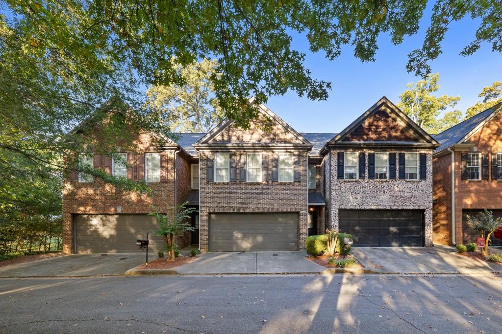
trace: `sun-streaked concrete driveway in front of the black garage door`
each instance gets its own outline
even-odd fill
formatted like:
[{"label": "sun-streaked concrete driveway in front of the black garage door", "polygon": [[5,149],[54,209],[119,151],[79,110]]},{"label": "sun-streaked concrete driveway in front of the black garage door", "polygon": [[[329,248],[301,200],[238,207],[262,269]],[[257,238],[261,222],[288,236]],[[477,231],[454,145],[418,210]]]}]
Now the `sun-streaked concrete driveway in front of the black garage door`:
[{"label": "sun-streaked concrete driveway in front of the black garage door", "polygon": [[488,273],[502,272],[496,263],[455,254],[455,247],[353,247],[365,270],[376,273]]}]

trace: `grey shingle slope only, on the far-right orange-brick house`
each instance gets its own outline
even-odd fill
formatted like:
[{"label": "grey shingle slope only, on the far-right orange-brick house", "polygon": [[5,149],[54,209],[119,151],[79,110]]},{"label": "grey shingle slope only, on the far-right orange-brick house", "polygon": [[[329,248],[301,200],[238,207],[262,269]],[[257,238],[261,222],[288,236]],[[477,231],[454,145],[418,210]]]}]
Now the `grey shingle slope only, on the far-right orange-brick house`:
[{"label": "grey shingle slope only, on the far-right orange-brick house", "polygon": [[485,111],[482,111],[479,114],[474,115],[471,118],[452,126],[448,130],[445,130],[437,135],[433,135],[434,139],[436,139],[441,144],[441,146],[438,147],[436,151],[441,151],[457,144],[460,139],[465,137],[476,126],[478,126],[479,123],[483,122],[488,116],[496,111],[498,109],[498,106],[500,105],[495,105],[489,109],[486,109]]}]

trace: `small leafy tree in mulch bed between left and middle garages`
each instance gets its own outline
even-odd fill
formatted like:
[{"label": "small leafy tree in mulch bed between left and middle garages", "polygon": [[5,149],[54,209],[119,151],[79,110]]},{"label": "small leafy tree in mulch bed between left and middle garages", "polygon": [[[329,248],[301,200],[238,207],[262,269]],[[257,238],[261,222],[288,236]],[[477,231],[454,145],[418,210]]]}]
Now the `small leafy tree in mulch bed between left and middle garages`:
[{"label": "small leafy tree in mulch bed between left and middle garages", "polygon": [[166,205],[166,214],[159,213],[156,207],[150,215],[157,219],[159,229],[157,234],[160,235],[166,243],[167,257],[171,261],[176,258],[176,238],[187,231],[194,231],[194,228],[188,222],[192,212],[197,211],[196,208],[186,208],[188,202],[179,206],[171,207]]}]

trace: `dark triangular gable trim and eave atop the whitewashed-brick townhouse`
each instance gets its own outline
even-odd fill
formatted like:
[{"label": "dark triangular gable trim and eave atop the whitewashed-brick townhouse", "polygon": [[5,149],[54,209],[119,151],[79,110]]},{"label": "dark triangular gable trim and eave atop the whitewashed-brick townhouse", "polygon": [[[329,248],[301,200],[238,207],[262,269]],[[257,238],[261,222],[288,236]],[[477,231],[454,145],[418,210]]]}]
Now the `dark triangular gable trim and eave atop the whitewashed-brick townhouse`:
[{"label": "dark triangular gable trim and eave atop the whitewashed-brick townhouse", "polygon": [[366,110],[361,116],[359,116],[355,121],[353,121],[349,126],[340,131],[335,135],[328,143],[324,145],[321,149],[321,154],[324,152],[328,145],[341,144],[344,138],[346,138],[352,131],[359,127],[365,120],[371,117],[374,113],[384,108],[391,117],[396,118],[399,122],[402,122],[407,129],[417,138],[420,138],[422,142],[389,142],[389,141],[367,141],[367,142],[343,142],[343,145],[360,145],[361,143],[371,144],[371,145],[422,145],[428,147],[437,147],[440,144],[429,135],[424,129],[419,127],[412,119],[408,117],[404,112],[401,111],[394,103],[392,103],[387,97],[383,96],[378,102],[372,105],[368,110]]}]

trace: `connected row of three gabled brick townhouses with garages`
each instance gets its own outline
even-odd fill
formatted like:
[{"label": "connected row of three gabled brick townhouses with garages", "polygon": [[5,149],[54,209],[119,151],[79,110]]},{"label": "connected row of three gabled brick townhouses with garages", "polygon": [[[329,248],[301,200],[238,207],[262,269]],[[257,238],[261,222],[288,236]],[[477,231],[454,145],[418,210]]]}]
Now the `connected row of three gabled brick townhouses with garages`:
[{"label": "connected row of three gabled brick townhouses with garages", "polygon": [[[254,99],[250,100],[254,103]],[[145,180],[151,198],[72,174],[63,189],[65,252],[138,251],[152,205],[188,202],[201,251],[302,250],[308,235],[339,227],[357,245],[432,244],[432,152],[439,144],[385,97],[339,134],[298,133],[266,106],[249,129],[224,120],[207,134],[176,134],[121,161],[81,163]]]}]

